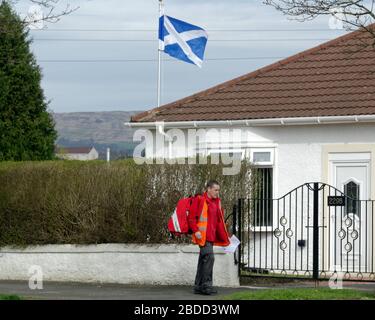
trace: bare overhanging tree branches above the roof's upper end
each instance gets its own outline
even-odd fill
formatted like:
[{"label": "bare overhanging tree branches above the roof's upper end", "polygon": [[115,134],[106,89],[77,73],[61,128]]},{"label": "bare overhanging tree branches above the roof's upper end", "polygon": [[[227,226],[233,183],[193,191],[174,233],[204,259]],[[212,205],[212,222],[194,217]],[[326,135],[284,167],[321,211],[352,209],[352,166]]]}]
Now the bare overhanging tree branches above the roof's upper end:
[{"label": "bare overhanging tree branches above the roof's upper end", "polygon": [[298,21],[312,20],[318,16],[333,16],[348,30],[360,29],[374,39],[375,0],[264,0]]}]

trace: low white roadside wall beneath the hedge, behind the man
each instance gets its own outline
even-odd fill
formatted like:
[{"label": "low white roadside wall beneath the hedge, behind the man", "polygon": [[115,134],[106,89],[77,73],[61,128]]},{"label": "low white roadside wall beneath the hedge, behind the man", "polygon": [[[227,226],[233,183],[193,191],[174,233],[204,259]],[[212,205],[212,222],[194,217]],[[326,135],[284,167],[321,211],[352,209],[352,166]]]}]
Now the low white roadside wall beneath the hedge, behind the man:
[{"label": "low white roadside wall beneath the hedge, behind the man", "polygon": [[[233,254],[214,247],[215,286],[239,286]],[[0,279],[25,280],[29,268],[42,268],[44,281],[147,285],[194,285],[196,245],[44,245],[0,250]]]}]

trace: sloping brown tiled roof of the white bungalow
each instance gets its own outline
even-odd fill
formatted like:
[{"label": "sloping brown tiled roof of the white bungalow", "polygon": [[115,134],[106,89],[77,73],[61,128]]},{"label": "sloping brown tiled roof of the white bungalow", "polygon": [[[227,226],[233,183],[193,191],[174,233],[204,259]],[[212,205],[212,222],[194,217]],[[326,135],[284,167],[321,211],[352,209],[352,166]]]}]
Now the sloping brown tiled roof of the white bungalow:
[{"label": "sloping brown tiled roof of the white bungalow", "polygon": [[131,121],[375,114],[373,44],[369,33],[351,32]]}]

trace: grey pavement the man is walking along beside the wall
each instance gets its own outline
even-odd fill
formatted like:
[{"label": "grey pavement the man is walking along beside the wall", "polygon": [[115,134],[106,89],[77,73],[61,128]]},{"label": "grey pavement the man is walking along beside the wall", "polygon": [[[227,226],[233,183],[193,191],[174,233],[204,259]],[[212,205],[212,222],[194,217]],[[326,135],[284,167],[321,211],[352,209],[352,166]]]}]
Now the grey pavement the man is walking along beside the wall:
[{"label": "grey pavement the man is walking along beside the wall", "polygon": [[[320,287],[328,281],[319,282]],[[0,294],[16,294],[31,300],[220,300],[223,296],[246,290],[314,288],[315,283],[290,282],[246,285],[235,288],[215,287],[217,295],[193,293],[193,286],[124,285],[72,282],[43,282],[43,289],[30,289],[28,281],[0,281]],[[375,282],[344,282],[344,289],[375,291]]]}]

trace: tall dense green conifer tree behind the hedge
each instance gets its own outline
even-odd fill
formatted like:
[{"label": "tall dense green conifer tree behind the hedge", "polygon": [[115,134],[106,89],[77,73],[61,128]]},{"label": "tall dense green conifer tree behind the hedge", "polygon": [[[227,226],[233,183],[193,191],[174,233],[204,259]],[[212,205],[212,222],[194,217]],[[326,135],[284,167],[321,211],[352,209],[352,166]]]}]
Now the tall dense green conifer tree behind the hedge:
[{"label": "tall dense green conifer tree behind the hedge", "polygon": [[0,160],[47,160],[57,132],[40,86],[28,30],[7,1],[0,4]]}]

